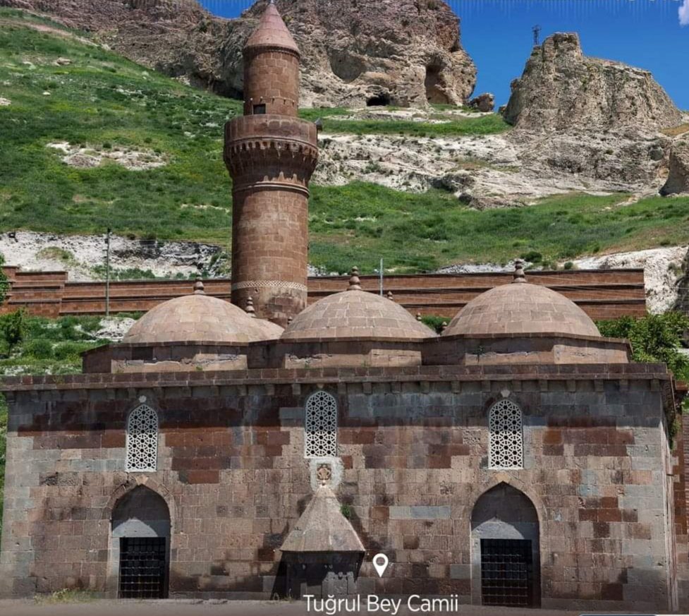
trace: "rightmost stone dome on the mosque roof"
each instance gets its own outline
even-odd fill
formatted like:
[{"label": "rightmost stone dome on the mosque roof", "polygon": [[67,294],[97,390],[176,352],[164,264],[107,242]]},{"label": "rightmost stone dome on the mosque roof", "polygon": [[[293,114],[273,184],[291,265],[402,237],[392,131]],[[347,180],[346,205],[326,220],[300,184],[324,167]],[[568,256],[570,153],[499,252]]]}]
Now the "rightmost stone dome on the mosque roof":
[{"label": "rightmost stone dome on the mosque roof", "polygon": [[443,332],[491,334],[573,334],[600,337],[590,317],[565,296],[537,284],[502,284],[472,299]]}]

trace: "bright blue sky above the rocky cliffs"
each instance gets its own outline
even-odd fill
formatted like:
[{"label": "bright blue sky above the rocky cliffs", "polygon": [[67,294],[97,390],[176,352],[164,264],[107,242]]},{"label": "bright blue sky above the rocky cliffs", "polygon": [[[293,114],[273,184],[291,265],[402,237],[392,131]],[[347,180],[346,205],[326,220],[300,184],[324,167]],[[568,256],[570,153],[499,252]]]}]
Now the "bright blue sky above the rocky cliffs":
[{"label": "bright blue sky above the rocky cliffs", "polygon": [[[689,0],[447,0],[462,18],[462,44],[478,68],[476,93],[509,97],[541,37],[579,32],[585,54],[652,71],[678,107],[689,110]],[[251,0],[200,0],[212,13],[236,17]]]}]

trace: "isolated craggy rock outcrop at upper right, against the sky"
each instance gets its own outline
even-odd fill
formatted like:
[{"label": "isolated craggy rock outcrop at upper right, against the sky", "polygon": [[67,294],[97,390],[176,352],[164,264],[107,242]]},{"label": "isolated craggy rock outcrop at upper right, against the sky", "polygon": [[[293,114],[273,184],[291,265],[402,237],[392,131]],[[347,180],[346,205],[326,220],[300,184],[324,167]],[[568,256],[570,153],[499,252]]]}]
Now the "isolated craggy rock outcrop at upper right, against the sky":
[{"label": "isolated craggy rock outcrop at upper right, against the sky", "polygon": [[535,47],[512,82],[506,121],[528,131],[658,131],[682,121],[649,71],[585,56],[575,32]]}]

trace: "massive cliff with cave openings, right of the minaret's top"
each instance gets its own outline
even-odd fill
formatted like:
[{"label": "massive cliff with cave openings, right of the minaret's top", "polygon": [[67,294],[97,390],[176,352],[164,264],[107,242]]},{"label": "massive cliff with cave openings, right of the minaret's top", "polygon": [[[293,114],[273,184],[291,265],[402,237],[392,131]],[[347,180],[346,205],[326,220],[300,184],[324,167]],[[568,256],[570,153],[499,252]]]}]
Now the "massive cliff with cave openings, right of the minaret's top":
[{"label": "massive cliff with cave openings, right of the minaret's top", "polygon": [[[258,1],[236,29],[255,23]],[[303,54],[305,104],[363,107],[462,104],[476,70],[459,20],[441,0],[277,0]],[[233,56],[241,37],[228,40]]]}]

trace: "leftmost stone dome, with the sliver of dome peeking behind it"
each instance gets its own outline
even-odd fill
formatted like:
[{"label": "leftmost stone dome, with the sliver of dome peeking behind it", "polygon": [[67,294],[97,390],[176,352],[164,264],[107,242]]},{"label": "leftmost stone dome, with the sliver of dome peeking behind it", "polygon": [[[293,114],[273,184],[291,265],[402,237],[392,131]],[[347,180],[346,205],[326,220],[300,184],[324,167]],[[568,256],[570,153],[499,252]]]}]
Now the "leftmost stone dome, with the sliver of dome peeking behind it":
[{"label": "leftmost stone dome, with the sliver of dome peeking behind it", "polygon": [[[264,325],[241,308],[204,294],[176,297],[142,316],[122,342],[224,342],[236,344],[276,339],[278,325]],[[279,331],[278,331],[279,330]]]}]

